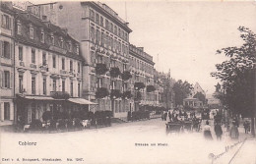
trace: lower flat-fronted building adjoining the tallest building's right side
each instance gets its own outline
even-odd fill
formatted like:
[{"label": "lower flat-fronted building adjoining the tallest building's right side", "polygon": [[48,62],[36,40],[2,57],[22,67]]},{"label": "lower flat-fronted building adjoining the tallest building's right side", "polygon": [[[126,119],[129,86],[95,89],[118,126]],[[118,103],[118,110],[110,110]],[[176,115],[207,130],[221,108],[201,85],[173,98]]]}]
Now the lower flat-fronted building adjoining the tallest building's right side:
[{"label": "lower flat-fronted building adjoining the tallest building's right side", "polygon": [[143,47],[129,46],[130,70],[132,74],[131,89],[135,95],[134,110],[140,106],[154,105],[158,99],[154,83],[153,57],[144,52]]}]

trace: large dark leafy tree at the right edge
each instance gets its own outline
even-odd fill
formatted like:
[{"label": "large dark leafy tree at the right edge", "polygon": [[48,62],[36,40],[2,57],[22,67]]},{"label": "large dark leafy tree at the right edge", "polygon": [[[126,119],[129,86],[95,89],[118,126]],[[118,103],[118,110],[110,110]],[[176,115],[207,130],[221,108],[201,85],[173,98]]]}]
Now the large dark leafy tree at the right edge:
[{"label": "large dark leafy tree at the right edge", "polygon": [[223,104],[233,114],[251,117],[254,130],[256,34],[247,27],[238,27],[238,30],[244,43],[240,47],[218,50],[217,54],[224,54],[229,60],[217,64],[217,72],[211,75],[223,82],[224,94],[219,95]]}]

